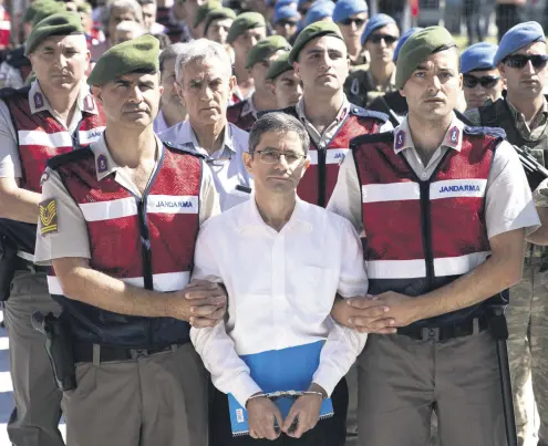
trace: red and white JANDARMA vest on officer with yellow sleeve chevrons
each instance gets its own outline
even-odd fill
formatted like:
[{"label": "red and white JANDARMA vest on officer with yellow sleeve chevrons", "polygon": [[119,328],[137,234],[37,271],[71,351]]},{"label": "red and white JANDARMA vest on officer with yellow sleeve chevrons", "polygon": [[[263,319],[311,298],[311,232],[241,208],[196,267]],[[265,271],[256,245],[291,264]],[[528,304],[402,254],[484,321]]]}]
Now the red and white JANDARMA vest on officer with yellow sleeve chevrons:
[{"label": "red and white JANDARMA vest on officer with yellow sleeve chevrons", "polygon": [[[91,268],[139,288],[182,290],[189,281],[199,229],[201,160],[164,146],[142,198],[116,183],[114,174],[97,180],[96,164],[104,162],[91,151],[77,151],[48,164],[84,216]],[[132,348],[188,342],[186,322],[120,315],[63,298],[54,271],[48,286],[72,317],[80,341]]]}]

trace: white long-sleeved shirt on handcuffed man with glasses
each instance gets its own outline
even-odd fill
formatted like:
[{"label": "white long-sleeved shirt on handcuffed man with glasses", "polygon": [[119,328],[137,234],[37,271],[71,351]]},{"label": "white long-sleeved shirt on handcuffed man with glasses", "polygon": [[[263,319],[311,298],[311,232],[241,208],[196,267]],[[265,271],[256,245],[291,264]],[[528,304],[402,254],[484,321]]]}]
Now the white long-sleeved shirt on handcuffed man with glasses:
[{"label": "white long-sleeved shirt on handcuffed man with glasses", "polygon": [[255,196],[206,221],[193,277],[225,284],[228,320],[192,329],[190,339],[215,386],[245,405],[260,388],[240,355],[323,340],[313,381],[331,394],[366,340],[330,317],[337,293],[365,295],[362,256],[349,221],[300,199],[279,232],[265,224]]}]

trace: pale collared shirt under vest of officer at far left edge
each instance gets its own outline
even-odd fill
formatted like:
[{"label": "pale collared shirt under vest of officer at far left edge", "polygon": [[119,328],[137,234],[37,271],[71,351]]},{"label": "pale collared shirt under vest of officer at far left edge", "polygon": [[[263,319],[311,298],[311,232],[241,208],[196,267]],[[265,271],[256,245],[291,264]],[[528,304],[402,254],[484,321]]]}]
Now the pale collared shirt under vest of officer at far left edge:
[{"label": "pale collared shirt under vest of officer at far left edge", "polygon": [[[95,101],[85,82],[82,82],[74,115],[68,126],[61,121],[59,114],[49,104],[38,81],[34,81],[29,90],[29,106],[32,114],[42,111],[50,112],[51,115],[71,133],[74,133],[77,129],[79,124],[82,121],[82,111],[97,114]],[[19,157],[17,131],[13,127],[8,105],[4,101],[0,101],[0,178],[20,178],[21,176],[21,160]]]}]

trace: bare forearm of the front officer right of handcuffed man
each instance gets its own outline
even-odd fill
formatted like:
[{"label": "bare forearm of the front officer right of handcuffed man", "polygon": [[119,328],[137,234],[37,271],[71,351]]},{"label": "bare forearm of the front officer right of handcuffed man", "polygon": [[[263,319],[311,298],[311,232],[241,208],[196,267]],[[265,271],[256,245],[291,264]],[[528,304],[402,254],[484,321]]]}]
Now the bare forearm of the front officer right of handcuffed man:
[{"label": "bare forearm of the front officer right of handcuffed man", "polygon": [[521,278],[521,256],[489,258],[454,282],[413,299],[417,320],[472,307],[517,283]]}]

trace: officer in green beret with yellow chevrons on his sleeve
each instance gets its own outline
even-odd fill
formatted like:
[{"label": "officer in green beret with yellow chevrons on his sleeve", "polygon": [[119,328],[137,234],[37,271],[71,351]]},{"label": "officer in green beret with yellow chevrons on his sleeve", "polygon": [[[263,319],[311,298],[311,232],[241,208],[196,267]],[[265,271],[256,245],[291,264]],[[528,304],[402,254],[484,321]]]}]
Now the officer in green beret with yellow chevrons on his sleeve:
[{"label": "officer in green beret with yellow chevrons on his sleeve", "polygon": [[214,324],[226,295],[188,279],[218,203],[203,159],[154,134],[158,46],[146,35],[97,60],[87,83],[105,133],[45,172],[35,260],[53,266],[50,292],[73,343],[70,445],[207,445],[207,381],[189,322]]}]

